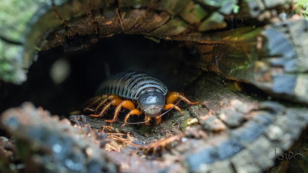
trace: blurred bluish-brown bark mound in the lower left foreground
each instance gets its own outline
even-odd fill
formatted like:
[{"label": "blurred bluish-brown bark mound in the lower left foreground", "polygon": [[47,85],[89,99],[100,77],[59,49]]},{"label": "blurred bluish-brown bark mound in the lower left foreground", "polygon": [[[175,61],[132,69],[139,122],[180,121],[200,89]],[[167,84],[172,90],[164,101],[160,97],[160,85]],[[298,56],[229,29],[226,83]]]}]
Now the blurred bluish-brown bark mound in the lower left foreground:
[{"label": "blurred bluish-brown bark mound in the lower left foreground", "polygon": [[[22,107],[7,110],[1,115],[1,127],[14,135],[19,152],[18,160],[15,156],[8,162],[16,167],[4,164],[1,156],[0,171],[3,173],[118,172],[118,166],[101,149],[106,135],[98,135],[89,126],[74,128],[67,119],[60,121],[58,116],[51,117],[41,107],[36,109],[25,103]],[[15,150],[14,147],[4,148]],[[22,163],[21,167],[18,167],[19,163]]]}]

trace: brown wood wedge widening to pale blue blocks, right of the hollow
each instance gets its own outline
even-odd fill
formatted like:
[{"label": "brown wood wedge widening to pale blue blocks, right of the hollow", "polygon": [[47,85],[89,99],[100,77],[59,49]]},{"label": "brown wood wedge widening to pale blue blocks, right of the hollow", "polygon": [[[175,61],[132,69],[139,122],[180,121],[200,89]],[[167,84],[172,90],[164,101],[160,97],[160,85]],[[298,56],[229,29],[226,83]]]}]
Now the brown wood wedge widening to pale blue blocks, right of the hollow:
[{"label": "brown wood wedge widening to pale blue blocks, right of the hollow", "polygon": [[201,54],[198,67],[307,104],[307,29],[306,20],[290,19],[268,25],[249,44],[195,45]]}]

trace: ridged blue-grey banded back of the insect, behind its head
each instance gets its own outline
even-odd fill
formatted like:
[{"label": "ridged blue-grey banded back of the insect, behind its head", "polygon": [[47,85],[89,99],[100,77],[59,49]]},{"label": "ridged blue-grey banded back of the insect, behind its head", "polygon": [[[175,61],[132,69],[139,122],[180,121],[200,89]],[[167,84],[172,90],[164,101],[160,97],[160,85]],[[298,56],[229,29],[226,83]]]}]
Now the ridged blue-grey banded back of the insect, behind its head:
[{"label": "ridged blue-grey banded back of the insect, behind its head", "polygon": [[167,86],[160,80],[142,72],[121,72],[111,77],[97,91],[97,95],[115,94],[124,99],[136,101],[146,90],[155,90],[164,96]]}]

